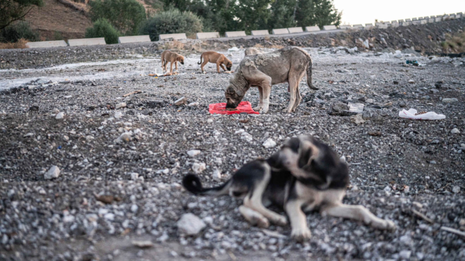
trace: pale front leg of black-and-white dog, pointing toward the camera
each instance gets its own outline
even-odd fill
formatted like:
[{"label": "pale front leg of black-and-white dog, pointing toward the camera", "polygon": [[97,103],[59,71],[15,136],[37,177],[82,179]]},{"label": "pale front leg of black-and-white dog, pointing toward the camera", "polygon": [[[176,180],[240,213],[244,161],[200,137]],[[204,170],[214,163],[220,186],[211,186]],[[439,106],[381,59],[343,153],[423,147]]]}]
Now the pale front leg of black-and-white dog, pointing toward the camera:
[{"label": "pale front leg of black-and-white dog, pointing toward the camera", "polygon": [[291,237],[296,241],[304,241],[312,236],[310,229],[307,227],[307,219],[302,211],[302,204],[302,201],[293,199],[286,202],[285,205],[287,216],[291,222]]}]

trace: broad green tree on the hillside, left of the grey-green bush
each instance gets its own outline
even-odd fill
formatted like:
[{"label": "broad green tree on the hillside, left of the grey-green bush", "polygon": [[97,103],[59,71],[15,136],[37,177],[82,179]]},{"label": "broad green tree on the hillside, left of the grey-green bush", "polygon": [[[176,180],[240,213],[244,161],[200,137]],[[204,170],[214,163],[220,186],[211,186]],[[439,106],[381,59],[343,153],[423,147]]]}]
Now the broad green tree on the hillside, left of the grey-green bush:
[{"label": "broad green tree on the hillside, left of the grey-green bush", "polygon": [[94,0],[89,6],[93,22],[105,18],[124,35],[137,35],[146,20],[145,8],[136,0]]}]

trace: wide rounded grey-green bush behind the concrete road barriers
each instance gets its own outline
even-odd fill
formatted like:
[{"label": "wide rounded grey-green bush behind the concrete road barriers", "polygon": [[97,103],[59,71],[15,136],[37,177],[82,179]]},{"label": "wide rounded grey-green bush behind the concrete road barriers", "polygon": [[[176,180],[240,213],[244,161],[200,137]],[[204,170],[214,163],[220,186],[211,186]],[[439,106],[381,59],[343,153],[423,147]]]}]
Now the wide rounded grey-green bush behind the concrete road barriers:
[{"label": "wide rounded grey-green bush behind the concrete road barriers", "polygon": [[152,41],[165,33],[186,33],[187,36],[202,32],[202,20],[191,12],[178,9],[155,14],[140,28],[140,34],[148,34]]}]

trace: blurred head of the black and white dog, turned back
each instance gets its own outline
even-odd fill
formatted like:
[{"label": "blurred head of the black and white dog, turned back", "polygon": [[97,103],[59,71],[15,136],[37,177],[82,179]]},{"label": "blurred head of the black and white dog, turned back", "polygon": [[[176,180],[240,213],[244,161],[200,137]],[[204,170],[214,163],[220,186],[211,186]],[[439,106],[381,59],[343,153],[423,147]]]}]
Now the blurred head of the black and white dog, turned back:
[{"label": "blurred head of the black and white dog, turned back", "polygon": [[314,137],[291,138],[277,154],[283,167],[291,172],[299,170],[297,178],[301,182],[321,189],[345,188],[349,183],[347,164],[330,146]]}]

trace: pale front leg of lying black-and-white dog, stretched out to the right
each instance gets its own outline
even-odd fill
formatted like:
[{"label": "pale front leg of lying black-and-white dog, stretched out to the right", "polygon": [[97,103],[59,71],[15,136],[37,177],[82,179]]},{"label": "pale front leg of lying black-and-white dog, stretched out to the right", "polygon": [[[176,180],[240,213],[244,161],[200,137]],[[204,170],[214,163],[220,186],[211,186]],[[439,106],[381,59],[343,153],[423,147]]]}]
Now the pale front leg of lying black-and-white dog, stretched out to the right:
[{"label": "pale front leg of lying black-and-white dog, stretched out to the right", "polygon": [[363,221],[366,225],[381,230],[395,230],[396,225],[390,220],[381,219],[373,215],[370,210],[361,205],[346,205],[339,204],[328,206],[321,211],[323,215],[328,214],[331,216],[344,217],[354,220]]}]

